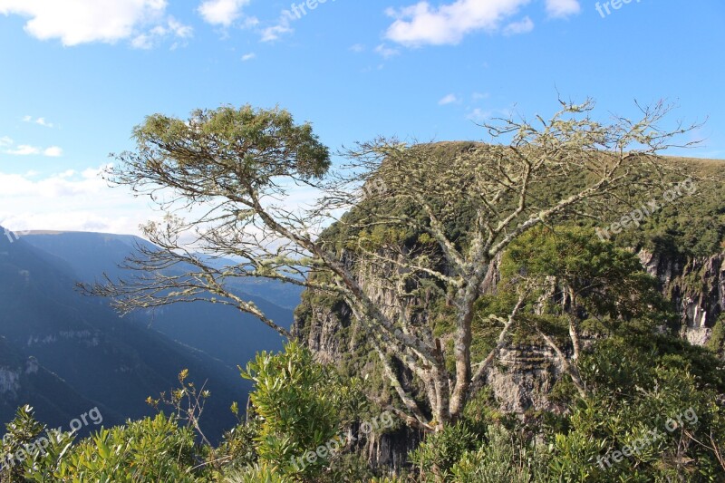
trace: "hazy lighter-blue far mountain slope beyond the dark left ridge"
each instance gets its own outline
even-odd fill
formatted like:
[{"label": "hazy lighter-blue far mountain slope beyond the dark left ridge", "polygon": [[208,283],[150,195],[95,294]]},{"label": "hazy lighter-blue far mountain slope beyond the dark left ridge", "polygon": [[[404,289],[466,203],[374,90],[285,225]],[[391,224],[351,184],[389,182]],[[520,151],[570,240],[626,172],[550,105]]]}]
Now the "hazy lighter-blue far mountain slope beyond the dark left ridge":
[{"label": "hazy lighter-blue far mountain slope beyond the dark left ridge", "polygon": [[[92,282],[105,273],[111,278],[130,275],[118,266],[135,246],[153,247],[140,237],[84,232],[31,232],[22,238],[53,258],[49,262],[73,270],[77,280]],[[234,263],[215,260],[215,264]],[[277,324],[290,327],[302,289],[263,280],[237,282],[233,290],[253,300]],[[101,303],[101,301],[96,301]],[[275,351],[284,342],[256,317],[221,304],[174,304],[131,314],[130,320],[164,333],[227,363],[245,366],[258,351]],[[238,373],[237,373],[238,377]]]}]

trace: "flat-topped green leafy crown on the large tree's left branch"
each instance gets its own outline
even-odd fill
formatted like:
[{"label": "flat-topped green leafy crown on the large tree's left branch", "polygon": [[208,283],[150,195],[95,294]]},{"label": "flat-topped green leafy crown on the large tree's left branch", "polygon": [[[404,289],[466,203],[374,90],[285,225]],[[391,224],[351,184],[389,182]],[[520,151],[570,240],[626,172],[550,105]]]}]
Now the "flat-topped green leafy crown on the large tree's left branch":
[{"label": "flat-topped green leafy crown on the large tree's left branch", "polygon": [[185,188],[205,179],[241,190],[264,188],[278,176],[320,178],[330,167],[329,152],[312,126],[296,125],[279,109],[224,106],[193,111],[186,121],[154,114],[133,136],[141,154],[124,153],[121,159],[157,176],[174,169],[189,183]]}]

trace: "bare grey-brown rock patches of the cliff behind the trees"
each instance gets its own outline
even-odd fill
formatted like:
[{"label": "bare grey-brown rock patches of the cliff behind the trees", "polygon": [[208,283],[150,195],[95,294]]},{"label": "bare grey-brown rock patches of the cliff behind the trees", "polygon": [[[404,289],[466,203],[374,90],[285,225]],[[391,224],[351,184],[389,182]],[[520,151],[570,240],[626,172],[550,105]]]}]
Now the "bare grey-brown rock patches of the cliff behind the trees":
[{"label": "bare grey-brown rock patches of the cliff behind the trees", "polygon": [[[691,343],[707,342],[712,326],[725,311],[725,254],[678,259],[642,250],[638,256],[647,272],[660,280],[662,293],[678,308],[683,336]],[[378,283],[383,273],[362,268],[357,271],[357,277],[376,303],[392,305],[392,293]],[[495,261],[482,285],[484,293],[493,291],[498,279]],[[345,304],[324,302],[315,304],[314,299],[305,298],[295,313],[293,330],[320,362],[349,360],[364,334],[357,332]],[[502,411],[552,410],[553,404],[547,395],[561,373],[560,362],[546,345],[508,346],[488,371],[487,386]],[[373,464],[400,468],[406,453],[415,447],[420,436],[417,431],[401,429],[367,441],[366,451]]]}]

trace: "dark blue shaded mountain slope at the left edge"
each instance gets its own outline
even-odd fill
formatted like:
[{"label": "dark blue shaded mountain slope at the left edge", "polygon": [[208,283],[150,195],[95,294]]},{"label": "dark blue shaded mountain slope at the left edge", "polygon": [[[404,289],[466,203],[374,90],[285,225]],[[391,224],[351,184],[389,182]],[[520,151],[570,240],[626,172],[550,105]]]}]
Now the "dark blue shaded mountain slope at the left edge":
[{"label": "dark blue shaded mountain slope at the left edge", "polygon": [[[121,254],[121,242],[110,246]],[[93,263],[105,263],[107,252],[92,247],[75,246],[77,259],[89,260],[76,267],[26,238],[0,237],[0,422],[24,403],[53,427],[67,428],[95,406],[105,426],[139,418],[152,412],[145,399],[176,387],[176,375],[187,368],[198,384],[208,380],[212,398],[202,426],[218,439],[234,423],[230,403],[246,401],[248,382],[230,364],[121,320],[106,301],[76,293],[76,268],[90,273]]]}]

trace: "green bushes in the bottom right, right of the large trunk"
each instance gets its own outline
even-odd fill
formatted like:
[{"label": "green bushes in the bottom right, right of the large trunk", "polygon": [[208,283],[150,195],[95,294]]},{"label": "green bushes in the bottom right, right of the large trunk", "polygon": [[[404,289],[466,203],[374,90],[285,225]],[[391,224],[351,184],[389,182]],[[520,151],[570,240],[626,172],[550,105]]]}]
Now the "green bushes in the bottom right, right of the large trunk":
[{"label": "green bushes in the bottom right, right of the large trunk", "polygon": [[[477,431],[485,436],[472,437],[461,423],[431,435],[411,453],[420,469],[416,480],[725,478],[719,461],[725,449],[725,413],[718,402],[723,366],[709,351],[637,324],[622,324],[583,353],[580,367],[591,396],[576,400],[570,412],[545,412],[531,422],[506,420],[486,409],[487,396],[474,399],[467,416],[478,416],[478,425],[487,425],[488,430]],[[652,430],[661,436],[651,438]],[[619,461],[612,459],[625,448],[628,455],[621,452]]]}]

